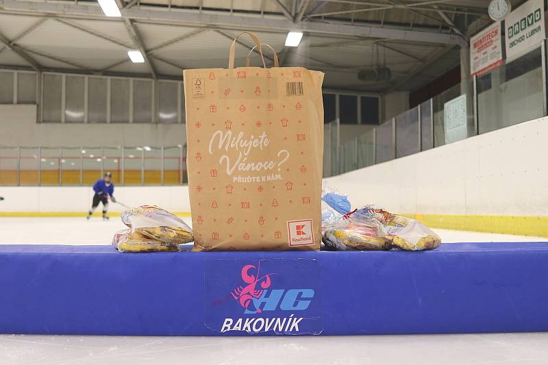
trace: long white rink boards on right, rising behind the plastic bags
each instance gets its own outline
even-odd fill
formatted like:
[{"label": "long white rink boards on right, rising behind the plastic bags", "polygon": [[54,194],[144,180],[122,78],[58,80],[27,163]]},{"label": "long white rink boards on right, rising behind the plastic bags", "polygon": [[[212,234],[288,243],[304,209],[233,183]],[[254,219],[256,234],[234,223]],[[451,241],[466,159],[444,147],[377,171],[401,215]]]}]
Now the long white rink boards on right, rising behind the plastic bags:
[{"label": "long white rink boards on right, rising behind the plastic bags", "polygon": [[354,207],[406,214],[548,216],[548,118],[343,175],[324,186]]}]

